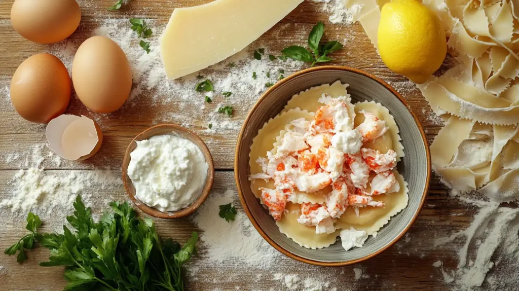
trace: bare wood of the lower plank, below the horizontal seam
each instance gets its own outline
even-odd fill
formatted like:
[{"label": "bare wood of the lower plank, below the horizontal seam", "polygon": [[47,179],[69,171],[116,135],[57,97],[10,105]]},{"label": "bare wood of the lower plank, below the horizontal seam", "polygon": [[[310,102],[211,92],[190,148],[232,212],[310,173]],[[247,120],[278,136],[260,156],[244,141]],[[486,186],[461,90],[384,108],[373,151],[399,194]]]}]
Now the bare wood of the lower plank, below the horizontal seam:
[{"label": "bare wood of the lower plank, below the horizontal seam", "polygon": [[[56,174],[60,171],[49,171]],[[0,171],[0,185],[7,185],[15,171]],[[440,189],[438,179],[434,179],[433,188]],[[0,188],[0,200],[8,194],[5,186]],[[214,188],[211,195],[232,190],[236,193],[234,174],[232,172],[217,172]],[[88,189],[92,195],[91,201],[124,200],[124,191],[118,186],[105,189]],[[238,196],[233,198],[238,212],[243,209]],[[95,214],[100,214],[104,207],[94,209]],[[140,215],[143,215],[139,212]],[[453,216],[456,214],[456,216]],[[458,215],[461,214],[461,215]],[[187,267],[186,281],[189,290],[231,290],[239,286],[242,290],[279,290],[282,282],[275,280],[275,274],[297,274],[300,279],[320,278],[319,274],[326,273],[326,280],[331,287],[338,290],[352,289],[377,289],[390,290],[398,287],[399,290],[415,289],[446,289],[442,274],[438,268],[432,266],[438,258],[445,258],[445,268],[454,268],[457,264],[453,259],[454,248],[432,248],[432,237],[439,233],[444,234],[458,231],[467,227],[470,223],[474,210],[466,210],[466,207],[452,199],[447,199],[443,193],[432,191],[424,210],[420,214],[415,225],[411,228],[408,238],[404,238],[397,245],[389,248],[383,254],[361,264],[342,268],[323,268],[305,265],[288,257],[279,257],[275,264],[266,270],[257,267],[238,267],[239,262],[229,261],[228,264],[216,264],[206,256],[195,258],[193,263]],[[0,214],[0,218],[4,214]],[[214,219],[221,219],[215,217]],[[165,220],[154,219],[157,229],[161,235],[173,237],[179,241],[185,241],[192,231],[203,232],[189,219]],[[4,226],[0,228],[0,250],[4,250],[10,244],[22,237],[26,230],[24,222],[12,219],[2,219]],[[44,222],[48,220],[44,219]],[[51,231],[57,229],[63,221],[51,221],[51,224],[43,226],[42,230]],[[230,242],[222,242],[229,243]],[[204,244],[199,244],[201,253],[204,252]],[[454,246],[454,245],[453,245]],[[37,262],[48,258],[48,251],[38,247],[28,252],[28,261],[17,264],[15,257],[0,255],[0,266],[5,268],[6,274],[0,272],[0,289],[2,290],[57,290],[60,289],[64,280],[62,279],[62,268],[43,268],[37,266]],[[364,270],[364,274],[370,278],[354,280],[353,268]],[[413,272],[409,272],[413,268]],[[197,270],[191,274],[189,270]],[[258,282],[256,275],[261,274]],[[37,276],[37,280],[34,280]],[[321,279],[322,280],[322,279]],[[326,290],[326,289],[325,289]]]}]

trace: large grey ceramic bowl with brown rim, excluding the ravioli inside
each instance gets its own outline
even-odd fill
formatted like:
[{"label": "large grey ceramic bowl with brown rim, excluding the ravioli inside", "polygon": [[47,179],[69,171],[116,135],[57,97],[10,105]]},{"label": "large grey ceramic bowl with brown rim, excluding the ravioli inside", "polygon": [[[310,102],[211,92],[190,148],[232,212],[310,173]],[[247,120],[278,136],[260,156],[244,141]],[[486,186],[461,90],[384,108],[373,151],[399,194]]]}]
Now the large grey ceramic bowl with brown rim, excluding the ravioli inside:
[{"label": "large grey ceramic bowl with brown rim, excluding the ravioli inside", "polygon": [[[249,153],[253,138],[270,118],[275,117],[293,94],[322,84],[340,80],[350,85],[352,103],[376,101],[386,106],[396,120],[402,136],[405,157],[398,163],[398,171],[409,183],[409,202],[399,214],[370,236],[361,248],[345,251],[340,239],[330,247],[310,250],[299,246],[279,232],[274,219],[268,214],[250,188],[248,176]],[[402,96],[383,80],[365,72],[339,66],[320,66],[295,73],[279,81],[263,94],[250,110],[243,123],[235,156],[235,178],[243,209],[252,224],[268,243],[293,259],[319,266],[345,266],[370,259],[397,242],[413,225],[427,197],[431,176],[429,147],[424,130]]]}]

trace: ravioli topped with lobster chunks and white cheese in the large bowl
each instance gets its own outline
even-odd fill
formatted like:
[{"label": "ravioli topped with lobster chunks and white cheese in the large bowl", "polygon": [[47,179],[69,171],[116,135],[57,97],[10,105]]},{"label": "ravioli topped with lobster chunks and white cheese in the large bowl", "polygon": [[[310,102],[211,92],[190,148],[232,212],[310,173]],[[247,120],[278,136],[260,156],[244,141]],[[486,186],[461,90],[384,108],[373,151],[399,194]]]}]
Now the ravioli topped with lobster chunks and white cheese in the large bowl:
[{"label": "ravioli topped with lobster chunks and white cheese in the large bowl", "polygon": [[293,95],[251,145],[252,191],[303,247],[330,246],[340,229],[373,234],[407,206],[407,183],[394,169],[404,156],[394,118],[379,103],[353,105],[347,87],[337,81]]}]

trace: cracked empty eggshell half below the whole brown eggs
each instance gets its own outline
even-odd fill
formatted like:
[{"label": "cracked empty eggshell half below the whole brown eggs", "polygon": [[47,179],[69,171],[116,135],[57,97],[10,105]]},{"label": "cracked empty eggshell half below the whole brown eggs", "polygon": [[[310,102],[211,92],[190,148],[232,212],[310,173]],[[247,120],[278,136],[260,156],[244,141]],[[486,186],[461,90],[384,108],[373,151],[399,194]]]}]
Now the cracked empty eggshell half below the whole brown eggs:
[{"label": "cracked empty eggshell half below the whole brown eggs", "polygon": [[60,115],[47,124],[49,148],[67,160],[85,160],[93,156],[103,143],[103,133],[92,119],[81,115]]}]

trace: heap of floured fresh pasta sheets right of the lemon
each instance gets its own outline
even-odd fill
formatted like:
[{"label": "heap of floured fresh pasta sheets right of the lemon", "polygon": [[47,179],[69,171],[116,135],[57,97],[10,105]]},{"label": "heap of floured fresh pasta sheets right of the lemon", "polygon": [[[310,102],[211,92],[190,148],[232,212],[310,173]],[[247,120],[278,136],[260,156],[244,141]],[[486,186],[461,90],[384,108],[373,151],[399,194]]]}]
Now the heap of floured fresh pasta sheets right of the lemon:
[{"label": "heap of floured fresh pasta sheets right of the lemon", "polygon": [[[365,3],[379,9],[383,5]],[[497,202],[517,200],[519,1],[422,3],[436,12],[449,37],[447,45],[459,54],[457,66],[417,85],[445,121],[431,145],[434,169],[454,189],[476,190]],[[377,18],[371,21],[378,25]],[[366,34],[373,37],[368,30]]]}]

